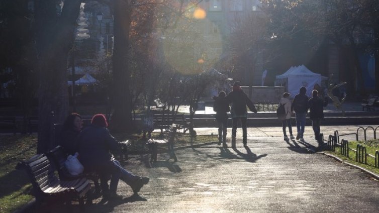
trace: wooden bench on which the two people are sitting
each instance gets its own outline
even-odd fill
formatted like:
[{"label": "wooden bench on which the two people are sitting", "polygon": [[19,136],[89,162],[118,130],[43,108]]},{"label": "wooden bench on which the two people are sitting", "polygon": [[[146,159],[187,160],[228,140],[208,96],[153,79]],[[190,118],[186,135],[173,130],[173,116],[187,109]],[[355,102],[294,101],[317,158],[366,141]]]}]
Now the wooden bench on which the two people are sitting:
[{"label": "wooden bench on which the two people are sitting", "polygon": [[56,170],[58,171],[59,179],[61,180],[74,180],[78,178],[87,178],[93,181],[93,185],[96,193],[100,193],[100,185],[99,185],[99,174],[95,172],[91,173],[82,173],[79,175],[72,175],[68,172],[64,162],[67,159],[68,153],[64,150],[63,147],[57,146],[54,149],[48,151],[46,156],[52,161],[55,165]]}]

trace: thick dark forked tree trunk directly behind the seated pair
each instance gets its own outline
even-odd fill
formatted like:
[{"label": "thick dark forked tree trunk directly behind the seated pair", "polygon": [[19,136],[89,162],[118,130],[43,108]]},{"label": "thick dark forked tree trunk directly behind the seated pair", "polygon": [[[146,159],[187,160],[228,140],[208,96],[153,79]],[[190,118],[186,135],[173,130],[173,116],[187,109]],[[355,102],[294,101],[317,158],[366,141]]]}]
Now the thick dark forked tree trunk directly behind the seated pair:
[{"label": "thick dark forked tree trunk directly behind the seated pair", "polygon": [[38,146],[37,153],[53,147],[51,112],[55,122],[63,122],[68,113],[67,56],[80,9],[79,0],[64,2],[58,15],[55,1],[35,1],[38,52]]}]

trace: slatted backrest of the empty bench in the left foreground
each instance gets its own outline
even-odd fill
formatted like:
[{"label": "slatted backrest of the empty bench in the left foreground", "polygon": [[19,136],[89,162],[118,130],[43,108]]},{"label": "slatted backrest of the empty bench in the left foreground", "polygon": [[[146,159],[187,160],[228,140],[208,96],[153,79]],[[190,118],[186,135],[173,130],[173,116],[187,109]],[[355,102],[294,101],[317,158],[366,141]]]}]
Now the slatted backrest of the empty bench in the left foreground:
[{"label": "slatted backrest of the empty bench in the left foreground", "polygon": [[45,187],[59,181],[45,154],[37,154],[29,160],[21,162],[21,165],[28,173],[34,192],[37,194],[42,194]]}]

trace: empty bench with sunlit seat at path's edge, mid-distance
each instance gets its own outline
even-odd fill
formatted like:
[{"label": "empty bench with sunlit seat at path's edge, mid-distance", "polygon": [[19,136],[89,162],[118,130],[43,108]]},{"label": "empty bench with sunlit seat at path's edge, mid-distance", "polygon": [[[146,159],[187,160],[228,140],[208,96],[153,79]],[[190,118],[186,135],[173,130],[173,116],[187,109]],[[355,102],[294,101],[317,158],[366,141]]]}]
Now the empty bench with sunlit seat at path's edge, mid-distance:
[{"label": "empty bench with sunlit seat at path's edge, mid-distance", "polygon": [[161,137],[160,139],[149,139],[147,141],[147,145],[150,150],[150,162],[157,161],[158,147],[166,147],[166,152],[170,155],[170,158],[177,161],[175,152],[174,152],[174,144],[175,144],[175,135],[176,130],[180,129],[180,125],[172,124],[167,130],[167,136]]}]

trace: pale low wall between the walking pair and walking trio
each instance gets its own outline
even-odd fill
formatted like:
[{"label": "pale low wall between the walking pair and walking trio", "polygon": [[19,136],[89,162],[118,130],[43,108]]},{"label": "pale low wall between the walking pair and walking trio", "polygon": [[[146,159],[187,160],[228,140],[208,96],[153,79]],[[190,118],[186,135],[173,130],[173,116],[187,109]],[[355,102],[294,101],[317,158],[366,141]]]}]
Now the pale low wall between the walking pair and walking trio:
[{"label": "pale low wall between the walking pair and walking trio", "polygon": [[[241,86],[249,94],[249,86]],[[285,92],[284,86],[252,86],[251,100],[253,102],[279,102]]]}]

